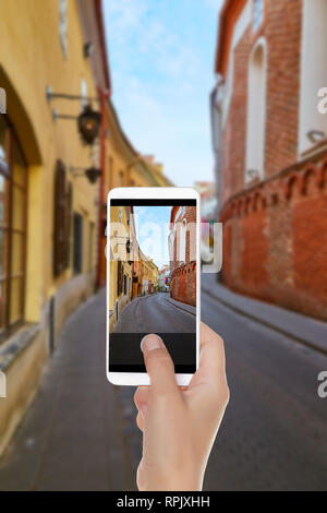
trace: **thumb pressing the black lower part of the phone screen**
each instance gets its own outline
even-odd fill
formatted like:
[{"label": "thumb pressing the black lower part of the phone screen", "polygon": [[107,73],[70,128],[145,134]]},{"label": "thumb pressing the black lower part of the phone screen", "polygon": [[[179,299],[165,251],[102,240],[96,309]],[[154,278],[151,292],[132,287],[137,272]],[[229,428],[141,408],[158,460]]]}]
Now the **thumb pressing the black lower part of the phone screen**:
[{"label": "thumb pressing the black lower part of the phone screen", "polygon": [[145,367],[154,393],[179,393],[174,375],[173,361],[158,335],[146,335],[141,342]]}]

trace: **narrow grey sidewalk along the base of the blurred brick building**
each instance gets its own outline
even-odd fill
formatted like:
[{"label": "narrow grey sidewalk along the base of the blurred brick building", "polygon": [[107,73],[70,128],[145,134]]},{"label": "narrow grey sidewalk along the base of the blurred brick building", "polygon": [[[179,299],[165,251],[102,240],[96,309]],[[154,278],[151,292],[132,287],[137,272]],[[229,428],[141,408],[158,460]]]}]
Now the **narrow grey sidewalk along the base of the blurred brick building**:
[{"label": "narrow grey sidewalk along the base of the blurred brick building", "polygon": [[284,308],[232,293],[216,281],[216,276],[203,273],[202,293],[215,298],[241,315],[253,319],[271,330],[305,346],[327,355],[327,323],[295,313]]}]

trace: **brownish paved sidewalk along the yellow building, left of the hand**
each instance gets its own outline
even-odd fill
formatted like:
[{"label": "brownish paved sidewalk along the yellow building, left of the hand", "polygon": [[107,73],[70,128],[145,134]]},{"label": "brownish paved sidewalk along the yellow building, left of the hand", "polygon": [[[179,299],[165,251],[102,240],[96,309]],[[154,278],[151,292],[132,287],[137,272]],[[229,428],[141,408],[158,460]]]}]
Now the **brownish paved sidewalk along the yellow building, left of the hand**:
[{"label": "brownish paved sidewalk along the yellow building, left of the hand", "polygon": [[101,290],[68,320],[38,394],[0,461],[0,490],[136,489],[140,440],[129,432],[136,416],[133,391],[108,383],[105,350]]}]

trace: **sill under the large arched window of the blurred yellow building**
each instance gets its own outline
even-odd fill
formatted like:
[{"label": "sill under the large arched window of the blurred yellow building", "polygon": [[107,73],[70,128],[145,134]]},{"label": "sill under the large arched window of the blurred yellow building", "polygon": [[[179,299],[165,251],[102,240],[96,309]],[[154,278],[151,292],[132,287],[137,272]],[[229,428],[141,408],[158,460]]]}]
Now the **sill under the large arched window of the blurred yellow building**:
[{"label": "sill under the large arched window of the blurred yellow building", "polygon": [[5,371],[39,333],[39,324],[24,324],[0,346],[0,370]]}]

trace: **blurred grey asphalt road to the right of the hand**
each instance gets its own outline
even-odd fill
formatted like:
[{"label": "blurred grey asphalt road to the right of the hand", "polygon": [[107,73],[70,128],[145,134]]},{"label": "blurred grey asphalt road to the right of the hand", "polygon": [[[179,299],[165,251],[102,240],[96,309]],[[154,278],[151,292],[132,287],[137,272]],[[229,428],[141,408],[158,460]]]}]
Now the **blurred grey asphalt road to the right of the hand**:
[{"label": "blurred grey asphalt road to the right of the hand", "polygon": [[208,490],[326,490],[327,358],[202,294],[225,339],[231,399],[209,460]]}]

